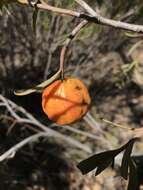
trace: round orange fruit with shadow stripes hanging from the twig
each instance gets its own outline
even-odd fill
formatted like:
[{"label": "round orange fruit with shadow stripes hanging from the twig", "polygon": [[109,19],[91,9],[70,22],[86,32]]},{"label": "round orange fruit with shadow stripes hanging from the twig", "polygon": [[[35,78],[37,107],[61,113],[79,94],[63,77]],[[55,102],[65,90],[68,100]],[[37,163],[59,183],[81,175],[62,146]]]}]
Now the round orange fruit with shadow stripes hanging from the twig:
[{"label": "round orange fruit with shadow stripes hanging from the twig", "polygon": [[77,78],[57,80],[44,89],[42,108],[48,118],[59,125],[81,119],[91,99],[86,86]]}]

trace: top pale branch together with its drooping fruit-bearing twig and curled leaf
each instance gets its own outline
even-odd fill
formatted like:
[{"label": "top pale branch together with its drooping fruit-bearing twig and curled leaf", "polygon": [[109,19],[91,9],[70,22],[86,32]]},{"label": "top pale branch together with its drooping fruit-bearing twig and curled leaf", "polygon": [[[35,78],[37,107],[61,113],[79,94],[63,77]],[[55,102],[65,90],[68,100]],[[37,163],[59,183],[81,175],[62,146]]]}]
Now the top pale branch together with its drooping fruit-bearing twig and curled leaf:
[{"label": "top pale branch together with its drooping fruit-bearing twig and curled leaf", "polygon": [[[21,4],[28,4],[27,0],[17,0]],[[63,46],[61,50],[61,56],[60,56],[60,69],[57,71],[55,75],[53,75],[50,79],[42,82],[41,84],[37,85],[34,88],[30,88],[27,90],[20,90],[16,91],[15,94],[18,96],[24,96],[31,94],[33,92],[41,92],[43,88],[51,84],[54,80],[56,80],[59,75],[61,75],[61,78],[64,78],[64,60],[65,60],[65,53],[67,50],[67,47],[69,46],[71,40],[74,38],[74,36],[83,28],[88,22],[94,22],[97,24],[112,26],[114,28],[124,29],[128,31],[134,31],[134,32],[140,32],[143,33],[143,26],[141,25],[135,25],[135,24],[128,24],[121,21],[115,21],[111,19],[107,19],[105,17],[102,17],[97,12],[95,12],[85,1],[83,0],[75,0],[78,4],[80,4],[88,13],[79,13],[76,11],[71,11],[67,9],[61,9],[54,6],[50,6],[47,3],[45,3],[43,0],[41,0],[42,3],[38,3],[36,6],[37,8],[46,9],[52,12],[62,13],[65,15],[70,15],[78,18],[83,18],[84,20],[76,26],[76,28],[72,31],[69,38],[66,40],[65,45]]]}]

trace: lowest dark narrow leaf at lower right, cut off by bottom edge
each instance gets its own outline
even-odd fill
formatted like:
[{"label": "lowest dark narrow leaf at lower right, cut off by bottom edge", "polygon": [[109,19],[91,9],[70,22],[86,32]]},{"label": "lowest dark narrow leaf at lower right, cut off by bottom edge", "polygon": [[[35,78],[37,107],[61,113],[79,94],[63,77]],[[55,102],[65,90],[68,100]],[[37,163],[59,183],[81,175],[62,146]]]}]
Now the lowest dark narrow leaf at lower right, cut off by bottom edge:
[{"label": "lowest dark narrow leaf at lower right, cut off by bottom edge", "polygon": [[137,190],[138,188],[138,176],[137,176],[137,167],[133,159],[129,160],[129,183],[127,190]]}]

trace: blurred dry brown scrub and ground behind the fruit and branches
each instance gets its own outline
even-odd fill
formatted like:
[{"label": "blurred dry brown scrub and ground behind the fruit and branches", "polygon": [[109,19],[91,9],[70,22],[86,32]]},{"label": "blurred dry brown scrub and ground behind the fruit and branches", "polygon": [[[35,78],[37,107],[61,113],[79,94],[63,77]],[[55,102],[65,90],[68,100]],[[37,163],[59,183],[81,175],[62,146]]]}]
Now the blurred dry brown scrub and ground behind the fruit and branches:
[{"label": "blurred dry brown scrub and ground behind the fruit and branches", "polygon": [[[74,0],[49,0],[58,7],[83,11]],[[89,5],[105,17],[129,23],[143,24],[141,0],[88,0]],[[40,94],[16,97],[15,89],[26,89],[42,82],[59,67],[60,50],[67,35],[80,22],[40,10],[36,34],[32,29],[30,7],[9,5],[0,16],[0,92],[24,107],[40,122],[50,124],[41,109]],[[92,106],[87,119],[71,125],[100,139],[90,139],[57,127],[60,133],[88,145],[92,153],[120,146],[129,139],[127,130],[111,127],[100,117],[128,127],[143,125],[143,40],[130,37],[124,31],[107,26],[89,24],[73,40],[66,54],[65,73],[82,79],[87,85]],[[33,134],[31,126],[14,123],[8,111],[0,108],[0,152]],[[13,125],[13,126],[12,126]],[[7,134],[9,128],[12,130]],[[138,143],[134,155],[142,155],[143,144]],[[76,168],[87,153],[74,150],[55,139],[40,139],[21,149],[14,158],[0,164],[0,189],[7,190],[112,190],[125,189],[119,178],[119,163],[94,178],[82,176]],[[140,184],[143,183],[142,156],[137,157]]]}]

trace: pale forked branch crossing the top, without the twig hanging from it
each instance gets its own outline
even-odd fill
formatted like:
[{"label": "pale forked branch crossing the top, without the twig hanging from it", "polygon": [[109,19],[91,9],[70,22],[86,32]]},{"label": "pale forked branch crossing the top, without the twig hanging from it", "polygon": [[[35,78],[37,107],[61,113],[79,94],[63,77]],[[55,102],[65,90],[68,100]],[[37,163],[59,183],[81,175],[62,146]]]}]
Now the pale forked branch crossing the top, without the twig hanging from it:
[{"label": "pale forked branch crossing the top, without the twig hanging from it", "polygon": [[[112,19],[105,18],[98,14],[95,10],[93,10],[85,1],[83,0],[75,0],[80,6],[82,6],[86,12],[89,14],[80,13],[77,11],[72,11],[68,9],[62,9],[58,7],[54,7],[51,5],[48,5],[47,3],[38,3],[37,8],[39,9],[45,9],[51,12],[55,12],[61,15],[69,15],[77,18],[83,18],[87,20],[88,22],[94,22],[96,24],[111,26],[113,28],[123,29],[127,31],[137,32],[137,33],[143,33],[143,26],[137,25],[137,24],[130,24],[126,22],[116,21]],[[27,0],[18,0],[21,4],[28,4]]]}]

